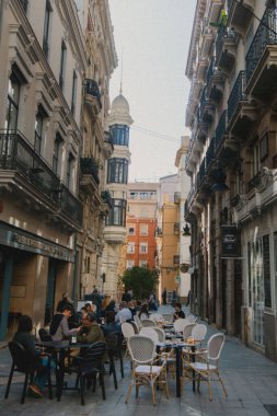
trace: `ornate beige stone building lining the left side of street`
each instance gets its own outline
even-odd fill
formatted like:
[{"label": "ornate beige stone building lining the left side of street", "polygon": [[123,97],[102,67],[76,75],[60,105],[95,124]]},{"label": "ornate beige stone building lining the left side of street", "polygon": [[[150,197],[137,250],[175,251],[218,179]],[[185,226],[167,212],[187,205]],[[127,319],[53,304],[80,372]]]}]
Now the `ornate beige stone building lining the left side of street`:
[{"label": "ornate beige stone building lining the left side of street", "polygon": [[100,167],[112,153],[103,126],[116,56],[106,1],[13,0],[0,11],[3,339],[20,314],[38,328],[62,292],[77,300],[88,251],[101,255],[109,204],[88,158]]}]

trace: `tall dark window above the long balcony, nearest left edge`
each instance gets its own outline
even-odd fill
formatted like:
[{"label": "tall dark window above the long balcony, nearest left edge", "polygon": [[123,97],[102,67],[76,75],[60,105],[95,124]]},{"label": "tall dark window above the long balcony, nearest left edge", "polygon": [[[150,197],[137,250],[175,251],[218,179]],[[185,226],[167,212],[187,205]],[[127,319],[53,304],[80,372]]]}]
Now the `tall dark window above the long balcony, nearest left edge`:
[{"label": "tall dark window above the long balcony, nearest left edge", "polygon": [[5,130],[16,130],[20,104],[20,81],[14,73],[11,74],[8,85],[8,103],[4,122]]}]

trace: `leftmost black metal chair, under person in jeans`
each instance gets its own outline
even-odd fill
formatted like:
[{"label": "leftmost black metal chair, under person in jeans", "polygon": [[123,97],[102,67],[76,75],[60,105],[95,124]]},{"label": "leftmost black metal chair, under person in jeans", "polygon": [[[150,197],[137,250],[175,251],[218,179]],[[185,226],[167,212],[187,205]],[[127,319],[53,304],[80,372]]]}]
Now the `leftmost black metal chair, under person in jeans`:
[{"label": "leftmost black metal chair, under person in jeans", "polygon": [[[13,372],[22,372],[25,374],[23,390],[21,394],[21,404],[25,402],[26,391],[27,391],[27,384],[28,382],[33,382],[35,372],[37,370],[42,369],[42,363],[39,357],[37,359],[34,359],[34,356],[30,354],[23,345],[20,343],[10,342],[9,343],[9,349],[12,357],[12,367],[5,389],[4,398],[9,397],[11,382],[13,378]],[[48,359],[48,367],[47,367],[47,381],[48,381],[48,395],[49,398],[53,398],[51,393],[51,375],[50,375],[50,359]]]}]

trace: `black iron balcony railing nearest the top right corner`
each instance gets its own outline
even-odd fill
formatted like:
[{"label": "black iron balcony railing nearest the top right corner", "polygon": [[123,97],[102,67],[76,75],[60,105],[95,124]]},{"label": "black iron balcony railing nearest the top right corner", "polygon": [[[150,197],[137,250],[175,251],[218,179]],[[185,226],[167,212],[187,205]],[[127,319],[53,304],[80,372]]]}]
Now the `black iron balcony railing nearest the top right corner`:
[{"label": "black iron balcony railing nearest the top right corner", "polygon": [[246,55],[246,82],[253,72],[267,45],[277,45],[277,8],[266,9],[251,47]]}]

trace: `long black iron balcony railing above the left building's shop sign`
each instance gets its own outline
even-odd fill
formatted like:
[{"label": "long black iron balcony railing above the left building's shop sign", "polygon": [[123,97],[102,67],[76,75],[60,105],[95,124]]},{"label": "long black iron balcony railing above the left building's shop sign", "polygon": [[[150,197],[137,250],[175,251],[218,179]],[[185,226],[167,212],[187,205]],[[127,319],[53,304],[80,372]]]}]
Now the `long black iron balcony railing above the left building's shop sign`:
[{"label": "long black iron balcony railing above the left building's shop sign", "polygon": [[0,169],[15,171],[81,227],[82,205],[22,134],[0,132]]}]

